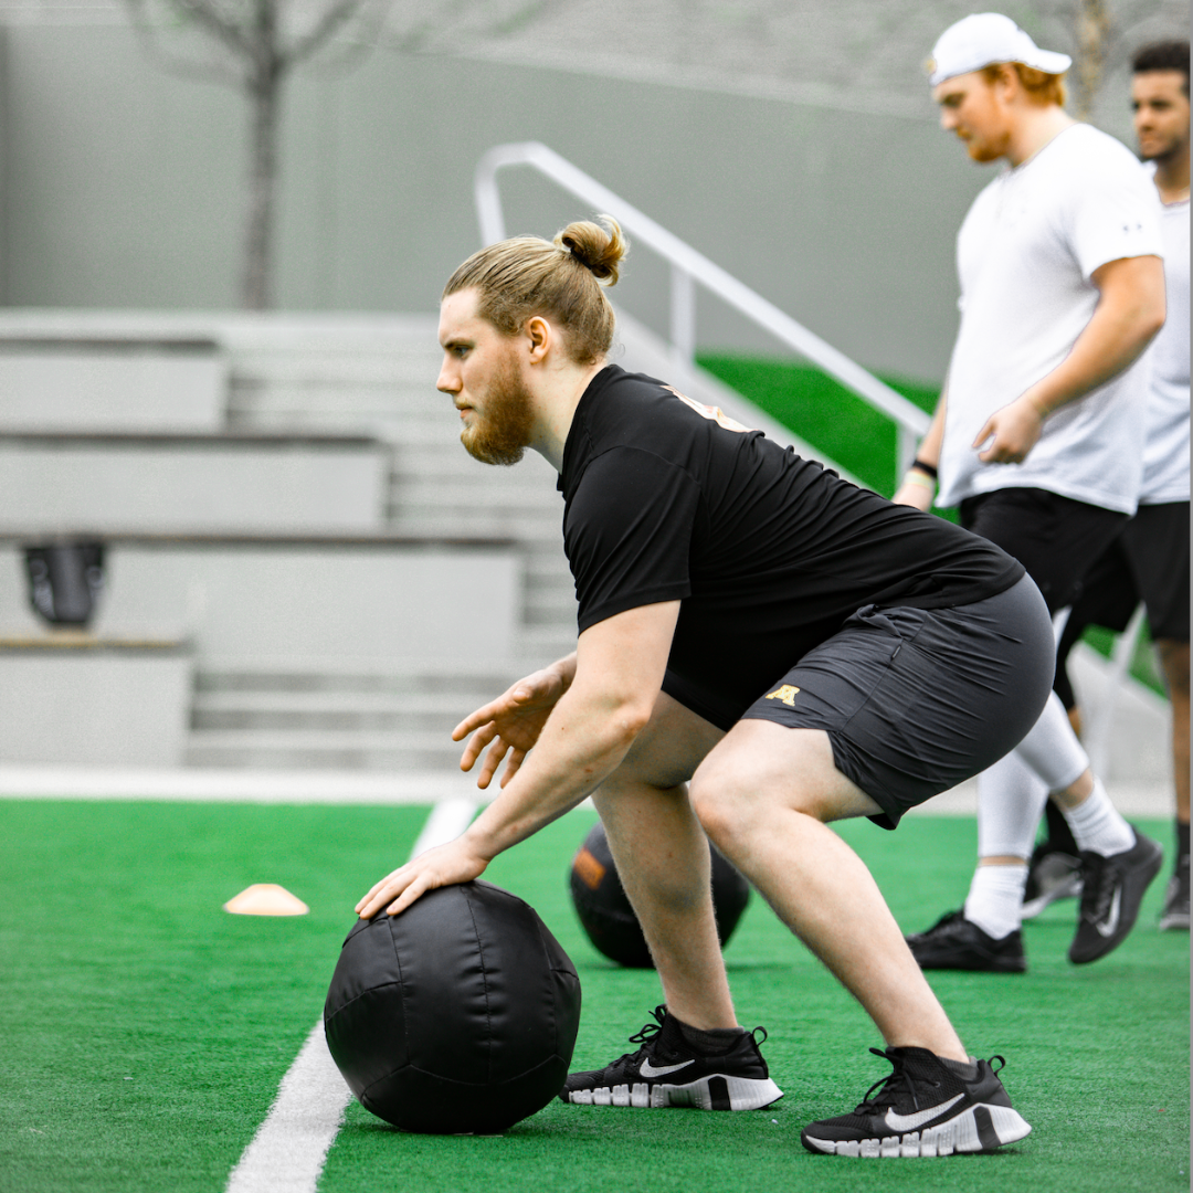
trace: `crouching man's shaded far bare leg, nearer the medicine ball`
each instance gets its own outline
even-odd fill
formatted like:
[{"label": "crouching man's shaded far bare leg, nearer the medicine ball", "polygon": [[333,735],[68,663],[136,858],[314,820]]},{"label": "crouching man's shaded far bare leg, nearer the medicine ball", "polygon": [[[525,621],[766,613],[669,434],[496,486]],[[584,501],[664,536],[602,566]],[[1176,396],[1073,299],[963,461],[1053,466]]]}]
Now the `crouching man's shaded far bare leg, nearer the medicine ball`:
[{"label": "crouching man's shaded far bare leg, nearer the medicine ball", "polygon": [[712,915],[709,843],[687,797],[719,729],[661,694],[650,723],[593,796],[642,925],[667,1008],[692,1027],[736,1027]]}]

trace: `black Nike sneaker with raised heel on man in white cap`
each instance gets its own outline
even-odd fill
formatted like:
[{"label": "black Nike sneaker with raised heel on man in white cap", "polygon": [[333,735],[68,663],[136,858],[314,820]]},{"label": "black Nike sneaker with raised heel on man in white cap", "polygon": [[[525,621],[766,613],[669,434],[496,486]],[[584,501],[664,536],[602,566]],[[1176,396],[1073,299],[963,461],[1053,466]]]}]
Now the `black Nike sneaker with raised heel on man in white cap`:
[{"label": "black Nike sneaker with raised heel on man in white cap", "polygon": [[1164,851],[1150,836],[1131,832],[1135,845],[1123,853],[1081,851],[1081,911],[1069,946],[1074,965],[1096,962],[1126,940],[1143,896],[1160,873]]}]

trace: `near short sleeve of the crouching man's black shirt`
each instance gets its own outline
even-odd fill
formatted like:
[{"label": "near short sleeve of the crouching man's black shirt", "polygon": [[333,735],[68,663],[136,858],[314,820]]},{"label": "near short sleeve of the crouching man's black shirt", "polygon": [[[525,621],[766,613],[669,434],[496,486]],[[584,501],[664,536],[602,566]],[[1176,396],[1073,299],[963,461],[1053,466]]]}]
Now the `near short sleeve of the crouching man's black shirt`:
[{"label": "near short sleeve of the crouching man's black shirt", "polygon": [[691,593],[698,502],[692,477],[653,452],[614,447],[588,465],[563,527],[581,633],[629,608]]}]

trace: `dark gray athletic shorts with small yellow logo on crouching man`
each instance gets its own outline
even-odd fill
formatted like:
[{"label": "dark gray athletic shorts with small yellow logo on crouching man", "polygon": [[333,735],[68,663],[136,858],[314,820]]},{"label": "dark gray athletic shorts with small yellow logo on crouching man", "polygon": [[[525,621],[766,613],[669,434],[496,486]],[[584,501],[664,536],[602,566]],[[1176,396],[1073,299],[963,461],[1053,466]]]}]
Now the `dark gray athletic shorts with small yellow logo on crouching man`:
[{"label": "dark gray athletic shorts with small yellow logo on crouching man", "polygon": [[1024,576],[973,605],[858,610],[743,719],[823,729],[836,768],[883,808],[871,820],[895,828],[1022,741],[1053,665],[1047,606]]}]

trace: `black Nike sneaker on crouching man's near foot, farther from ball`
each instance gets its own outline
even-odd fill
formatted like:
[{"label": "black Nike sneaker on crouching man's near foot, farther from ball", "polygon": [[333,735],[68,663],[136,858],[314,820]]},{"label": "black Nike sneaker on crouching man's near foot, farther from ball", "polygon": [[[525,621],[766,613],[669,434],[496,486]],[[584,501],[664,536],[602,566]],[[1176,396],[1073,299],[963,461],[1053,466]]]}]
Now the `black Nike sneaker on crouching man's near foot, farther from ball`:
[{"label": "black Nike sneaker on crouching man's near foot, farther from ball", "polygon": [[1031,1135],[999,1080],[1006,1064],[1001,1056],[978,1061],[970,1081],[927,1049],[870,1051],[890,1061],[894,1071],[866,1090],[852,1114],[805,1126],[799,1138],[809,1151],[866,1158],[951,1156],[994,1151]]}]

